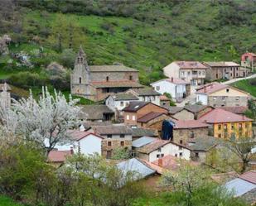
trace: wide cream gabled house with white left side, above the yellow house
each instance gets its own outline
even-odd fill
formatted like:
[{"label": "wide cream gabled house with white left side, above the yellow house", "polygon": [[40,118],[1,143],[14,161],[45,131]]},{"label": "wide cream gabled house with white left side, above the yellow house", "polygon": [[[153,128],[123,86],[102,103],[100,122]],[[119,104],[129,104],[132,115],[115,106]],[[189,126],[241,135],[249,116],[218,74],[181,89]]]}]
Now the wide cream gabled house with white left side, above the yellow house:
[{"label": "wide cream gabled house with white left side, above the yellow house", "polygon": [[196,102],[212,107],[248,106],[250,96],[240,89],[213,82],[196,89]]}]

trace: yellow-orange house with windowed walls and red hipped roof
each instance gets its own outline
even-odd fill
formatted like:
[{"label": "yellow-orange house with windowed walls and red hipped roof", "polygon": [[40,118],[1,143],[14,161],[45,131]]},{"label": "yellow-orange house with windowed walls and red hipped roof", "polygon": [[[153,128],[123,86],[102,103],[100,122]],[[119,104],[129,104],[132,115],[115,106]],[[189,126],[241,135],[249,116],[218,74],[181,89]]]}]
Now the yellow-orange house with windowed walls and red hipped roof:
[{"label": "yellow-orange house with windowed walls and red hipped roof", "polygon": [[221,108],[206,113],[200,122],[210,124],[212,136],[228,139],[230,137],[252,137],[252,119],[244,115],[230,113]]}]

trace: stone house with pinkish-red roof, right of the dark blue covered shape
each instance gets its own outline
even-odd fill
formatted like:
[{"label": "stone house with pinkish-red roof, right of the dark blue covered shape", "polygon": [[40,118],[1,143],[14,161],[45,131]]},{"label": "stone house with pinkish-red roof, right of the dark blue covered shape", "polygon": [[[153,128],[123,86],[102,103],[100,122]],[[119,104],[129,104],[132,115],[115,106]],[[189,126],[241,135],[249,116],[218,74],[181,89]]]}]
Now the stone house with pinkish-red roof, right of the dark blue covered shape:
[{"label": "stone house with pinkish-red roof, right of the dark blue covered shape", "polygon": [[196,137],[208,136],[209,125],[197,120],[176,120],[173,127],[173,142],[186,145]]}]

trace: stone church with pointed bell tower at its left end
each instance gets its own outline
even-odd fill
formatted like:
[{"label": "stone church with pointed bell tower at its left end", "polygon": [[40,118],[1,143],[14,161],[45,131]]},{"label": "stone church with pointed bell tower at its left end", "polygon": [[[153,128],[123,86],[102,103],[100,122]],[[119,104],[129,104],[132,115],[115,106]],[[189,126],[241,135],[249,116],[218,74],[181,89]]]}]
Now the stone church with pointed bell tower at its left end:
[{"label": "stone church with pointed bell tower at its left end", "polygon": [[142,88],[138,70],[124,65],[88,65],[82,48],[70,75],[71,93],[93,101],[103,100],[111,93]]}]

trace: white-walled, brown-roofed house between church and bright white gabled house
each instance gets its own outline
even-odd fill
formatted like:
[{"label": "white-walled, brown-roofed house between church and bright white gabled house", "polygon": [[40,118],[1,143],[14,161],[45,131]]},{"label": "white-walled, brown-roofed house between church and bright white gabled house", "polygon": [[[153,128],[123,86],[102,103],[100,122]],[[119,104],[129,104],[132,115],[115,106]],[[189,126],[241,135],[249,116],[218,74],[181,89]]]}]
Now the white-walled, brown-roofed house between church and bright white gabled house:
[{"label": "white-walled, brown-roofed house between church and bright white gabled house", "polygon": [[160,105],[161,93],[158,93],[152,88],[129,89],[126,93],[132,93],[138,97],[139,101]]}]

